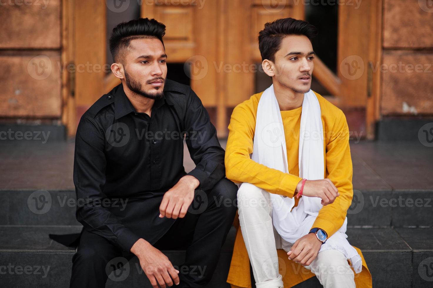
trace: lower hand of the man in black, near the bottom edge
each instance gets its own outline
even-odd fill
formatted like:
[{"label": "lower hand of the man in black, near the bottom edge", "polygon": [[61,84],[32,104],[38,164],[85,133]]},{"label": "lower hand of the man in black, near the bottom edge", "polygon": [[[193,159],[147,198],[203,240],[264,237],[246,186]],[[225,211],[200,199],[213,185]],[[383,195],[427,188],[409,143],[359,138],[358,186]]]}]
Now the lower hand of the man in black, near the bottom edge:
[{"label": "lower hand of the man in black, near the bottom edge", "polygon": [[138,239],[132,245],[131,252],[140,260],[140,266],[154,288],[158,288],[158,284],[161,288],[172,286],[173,281],[176,285],[179,284],[179,271],[174,269],[167,256],[145,239]]}]

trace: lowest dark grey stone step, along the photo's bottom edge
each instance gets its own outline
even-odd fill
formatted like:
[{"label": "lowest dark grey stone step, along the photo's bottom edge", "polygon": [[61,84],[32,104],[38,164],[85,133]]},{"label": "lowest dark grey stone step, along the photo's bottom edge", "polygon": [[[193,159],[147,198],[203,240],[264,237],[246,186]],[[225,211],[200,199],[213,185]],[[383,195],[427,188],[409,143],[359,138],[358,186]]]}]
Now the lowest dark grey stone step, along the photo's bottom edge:
[{"label": "lowest dark grey stone step, along the photo's bottom edge", "polygon": [[[68,287],[71,249],[48,234],[78,233],[80,226],[0,226],[0,283],[2,287]],[[349,242],[359,247],[372,273],[373,287],[432,287],[432,228],[348,228]],[[209,288],[229,288],[226,277],[236,230],[230,230]],[[184,251],[163,251],[181,265]],[[110,275],[107,287],[152,287],[136,257]],[[197,270],[198,271],[198,270]],[[125,274],[124,274],[125,273]],[[297,288],[321,287],[313,277]]]}]

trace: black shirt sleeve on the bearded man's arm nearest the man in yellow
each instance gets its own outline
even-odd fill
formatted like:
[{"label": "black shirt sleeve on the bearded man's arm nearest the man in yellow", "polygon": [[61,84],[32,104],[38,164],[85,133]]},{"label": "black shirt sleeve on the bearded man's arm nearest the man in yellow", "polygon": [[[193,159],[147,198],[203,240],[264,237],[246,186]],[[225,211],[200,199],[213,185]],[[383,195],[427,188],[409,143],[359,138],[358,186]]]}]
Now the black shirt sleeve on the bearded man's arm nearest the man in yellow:
[{"label": "black shirt sleeve on the bearded man's arm nearest the man in yellow", "polygon": [[200,181],[198,189],[207,191],[225,176],[224,149],[220,146],[207,110],[191,88],[186,99],[185,139],[191,159],[196,165],[187,175]]}]

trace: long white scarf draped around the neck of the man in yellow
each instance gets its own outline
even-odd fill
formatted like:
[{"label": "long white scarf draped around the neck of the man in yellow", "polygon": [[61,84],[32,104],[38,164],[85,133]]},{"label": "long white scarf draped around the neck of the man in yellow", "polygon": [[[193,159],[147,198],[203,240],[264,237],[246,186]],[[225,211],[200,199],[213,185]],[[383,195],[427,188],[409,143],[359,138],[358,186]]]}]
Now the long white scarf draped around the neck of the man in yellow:
[{"label": "long white scarf draped around the neck of the man in yellow", "polygon": [[[299,176],[307,180],[325,177],[323,159],[323,126],[320,104],[312,90],[304,94],[299,133]],[[252,160],[270,168],[288,172],[287,148],[281,112],[271,85],[262,94],[257,107]],[[319,197],[302,196],[294,206],[294,198],[271,193],[272,222],[275,230],[289,243],[310,232],[319,210],[323,207]],[[292,210],[293,208],[293,210]],[[343,226],[320,251],[337,249],[350,259],[356,273],[361,272],[362,259],[347,241],[347,217]],[[320,228],[320,227],[318,227]],[[319,252],[320,252],[319,251]]]}]

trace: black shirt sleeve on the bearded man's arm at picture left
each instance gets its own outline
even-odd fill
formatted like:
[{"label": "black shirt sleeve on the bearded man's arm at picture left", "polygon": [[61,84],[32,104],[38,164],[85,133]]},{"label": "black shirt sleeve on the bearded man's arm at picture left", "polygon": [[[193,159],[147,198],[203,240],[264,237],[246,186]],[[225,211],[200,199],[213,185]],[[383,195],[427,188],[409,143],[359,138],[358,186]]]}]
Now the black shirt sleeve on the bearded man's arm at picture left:
[{"label": "black shirt sleeve on the bearded man's arm at picture left", "polygon": [[125,251],[140,238],[127,229],[114,214],[101,205],[106,197],[104,154],[105,133],[89,116],[81,117],[75,136],[74,184],[77,220],[85,229],[100,235]]}]

